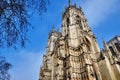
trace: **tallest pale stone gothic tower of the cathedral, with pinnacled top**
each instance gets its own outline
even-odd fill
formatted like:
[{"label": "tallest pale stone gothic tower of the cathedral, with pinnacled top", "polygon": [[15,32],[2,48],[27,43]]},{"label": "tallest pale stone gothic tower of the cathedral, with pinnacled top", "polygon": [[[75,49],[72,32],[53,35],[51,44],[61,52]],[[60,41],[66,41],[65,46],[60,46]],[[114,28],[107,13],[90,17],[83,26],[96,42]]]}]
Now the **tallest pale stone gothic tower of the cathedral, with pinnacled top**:
[{"label": "tallest pale stone gothic tower of the cathedral, with pinnacled top", "polygon": [[66,80],[102,80],[97,64],[100,49],[81,7],[69,2],[62,21],[62,35],[67,46]]}]

